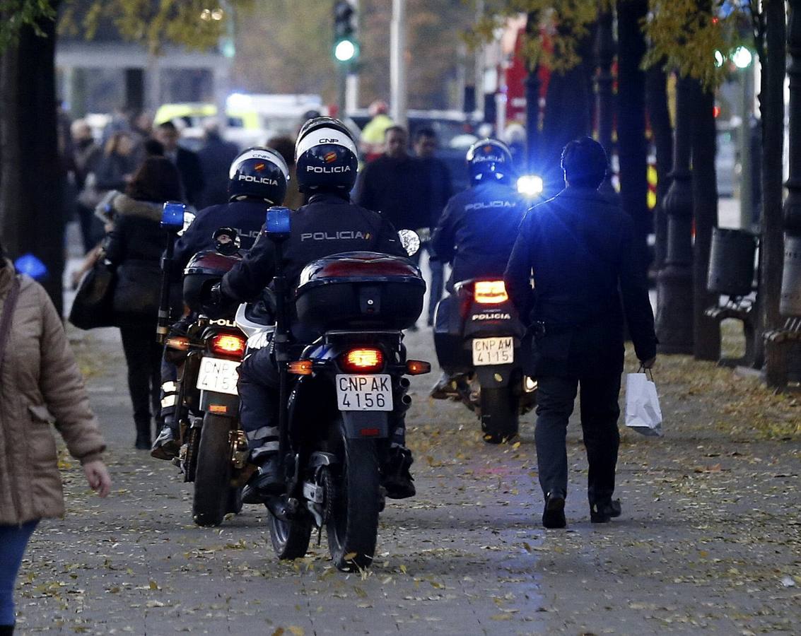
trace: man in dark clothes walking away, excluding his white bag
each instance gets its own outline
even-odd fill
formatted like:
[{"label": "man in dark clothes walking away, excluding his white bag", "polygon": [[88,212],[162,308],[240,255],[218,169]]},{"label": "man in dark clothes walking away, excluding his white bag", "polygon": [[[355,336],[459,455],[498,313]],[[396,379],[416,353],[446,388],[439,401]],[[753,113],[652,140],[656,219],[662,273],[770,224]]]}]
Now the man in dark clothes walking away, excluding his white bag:
[{"label": "man in dark clothes walking away, excluding his white bag", "polygon": [[593,139],[567,144],[567,187],[525,215],[505,273],[509,296],[533,333],[529,371],[538,384],[537,464],[546,528],[566,526],[566,432],[579,386],[590,520],[620,515],[620,501],[612,497],[624,316],[641,364],[650,368],[656,357],[654,314],[631,219],[598,192],[607,167],[606,152]]}]

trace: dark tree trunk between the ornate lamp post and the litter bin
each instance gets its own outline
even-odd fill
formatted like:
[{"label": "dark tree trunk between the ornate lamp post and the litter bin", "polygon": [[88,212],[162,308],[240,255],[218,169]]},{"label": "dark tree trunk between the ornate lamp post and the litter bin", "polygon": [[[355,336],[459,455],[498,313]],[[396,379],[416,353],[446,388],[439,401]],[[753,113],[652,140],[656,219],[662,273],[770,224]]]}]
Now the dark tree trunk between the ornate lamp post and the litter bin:
[{"label": "dark tree trunk between the ornate lamp post and the litter bin", "polygon": [[717,129],[714,123],[714,94],[694,83],[691,118],[693,153],[693,353],[697,360],[720,359],[720,328],[706,316],[707,308],[717,306],[717,294],[706,291],[709,274],[712,228],[718,225],[718,180],[714,168]]}]

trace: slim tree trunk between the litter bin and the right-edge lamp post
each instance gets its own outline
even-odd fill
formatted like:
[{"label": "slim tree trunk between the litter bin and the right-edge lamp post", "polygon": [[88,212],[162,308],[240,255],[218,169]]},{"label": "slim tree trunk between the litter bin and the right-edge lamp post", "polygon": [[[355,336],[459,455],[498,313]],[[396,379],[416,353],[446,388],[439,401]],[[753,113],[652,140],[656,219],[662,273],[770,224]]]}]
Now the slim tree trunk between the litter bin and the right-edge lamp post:
[{"label": "slim tree trunk between the litter bin and the right-edge lamp post", "polygon": [[784,142],[784,75],[787,62],[784,2],[765,2],[765,49],[759,111],[762,115],[762,242],[759,249],[759,308],[756,329],[756,360],[765,360],[763,334],[781,325],[779,299],[784,260],[782,209],[782,150]]}]

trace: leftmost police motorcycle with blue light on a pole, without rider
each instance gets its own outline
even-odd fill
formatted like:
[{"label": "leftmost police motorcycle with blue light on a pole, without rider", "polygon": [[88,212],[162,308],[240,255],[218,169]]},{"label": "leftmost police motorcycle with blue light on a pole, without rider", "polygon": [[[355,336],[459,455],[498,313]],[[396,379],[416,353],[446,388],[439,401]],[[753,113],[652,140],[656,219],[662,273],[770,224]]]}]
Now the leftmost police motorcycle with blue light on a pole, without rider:
[{"label": "leftmost police motorcycle with blue light on a pole, without rider", "polygon": [[[181,208],[183,204],[165,204],[163,227],[172,231],[179,227]],[[245,337],[232,316],[207,316],[201,300],[242,255],[231,227],[215,231],[214,240],[215,249],[195,254],[183,271],[183,301],[192,320],[179,332],[169,328],[173,242],[167,244],[158,326],[166,355],[179,367],[174,399],[180,450],[173,463],[183,481],[195,485],[192,518],[204,526],[219,525],[227,513],[239,513],[242,486],[250,475],[236,390]]]}]

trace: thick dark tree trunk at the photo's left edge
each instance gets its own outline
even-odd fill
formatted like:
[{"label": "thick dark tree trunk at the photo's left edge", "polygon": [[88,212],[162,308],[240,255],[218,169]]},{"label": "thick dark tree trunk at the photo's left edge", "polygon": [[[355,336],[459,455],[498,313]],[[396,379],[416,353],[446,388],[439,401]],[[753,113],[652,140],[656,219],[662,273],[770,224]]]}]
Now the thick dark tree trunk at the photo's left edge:
[{"label": "thick dark tree trunk at the photo's left edge", "polygon": [[[51,4],[58,9],[60,0]],[[13,257],[31,253],[46,265],[42,284],[62,311],[64,171],[55,97],[55,22],[25,27],[2,53],[0,95],[0,229]]]}]

